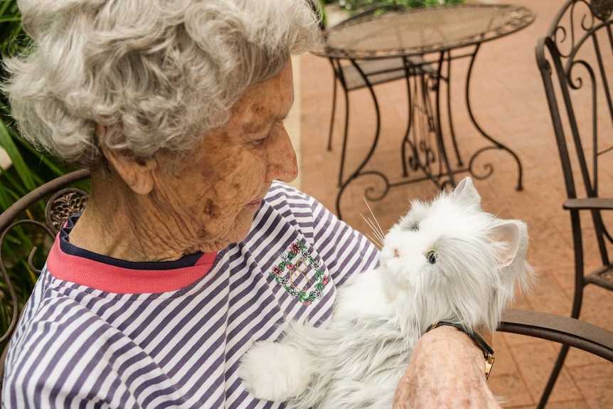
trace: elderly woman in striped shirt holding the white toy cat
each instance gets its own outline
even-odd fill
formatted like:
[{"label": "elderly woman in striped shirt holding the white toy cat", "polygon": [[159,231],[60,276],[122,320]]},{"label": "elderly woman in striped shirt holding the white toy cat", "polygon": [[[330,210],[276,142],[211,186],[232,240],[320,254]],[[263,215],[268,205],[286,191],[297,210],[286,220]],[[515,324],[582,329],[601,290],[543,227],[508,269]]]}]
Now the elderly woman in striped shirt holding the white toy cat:
[{"label": "elderly woman in striped shirt holding the white toy cat", "polygon": [[[6,408],[278,408],[237,375],[290,320],[325,324],[377,251],[314,199],[283,126],[304,0],[21,0],[7,63],[23,136],[91,170],[23,312]],[[299,254],[284,270],[283,257]],[[279,277],[279,280],[275,277]],[[281,284],[279,284],[281,283]],[[426,334],[397,405],[496,405],[480,350]],[[273,381],[273,380],[271,380]]]}]

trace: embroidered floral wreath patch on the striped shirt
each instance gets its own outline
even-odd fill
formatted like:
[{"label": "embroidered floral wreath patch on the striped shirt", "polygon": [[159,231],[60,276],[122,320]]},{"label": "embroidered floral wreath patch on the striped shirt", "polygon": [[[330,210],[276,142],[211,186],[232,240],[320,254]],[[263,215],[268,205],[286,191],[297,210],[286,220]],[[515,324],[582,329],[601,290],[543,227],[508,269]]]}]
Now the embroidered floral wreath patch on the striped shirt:
[{"label": "embroidered floral wreath patch on the striped shirt", "polygon": [[[288,252],[281,255],[281,260],[278,265],[272,267],[269,273],[278,285],[282,285],[289,295],[298,299],[304,305],[310,305],[314,300],[321,299],[324,295],[324,288],[328,285],[329,277],[320,270],[320,263],[311,257],[306,245],[297,240],[289,245]],[[314,281],[304,274],[307,271],[307,265],[315,270]],[[301,276],[307,280],[307,285],[299,288],[296,281]],[[307,295],[309,285],[313,290]]]}]

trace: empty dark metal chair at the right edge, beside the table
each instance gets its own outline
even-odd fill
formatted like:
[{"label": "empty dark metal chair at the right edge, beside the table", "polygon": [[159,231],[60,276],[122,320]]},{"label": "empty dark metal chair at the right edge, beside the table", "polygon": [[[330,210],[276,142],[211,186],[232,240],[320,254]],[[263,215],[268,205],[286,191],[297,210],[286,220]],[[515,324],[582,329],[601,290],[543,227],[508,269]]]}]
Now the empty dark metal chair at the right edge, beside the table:
[{"label": "empty dark metal chair at the right edge, beside the table", "polygon": [[[564,174],[567,200],[563,207],[572,225],[573,318],[580,315],[586,285],[613,290],[613,265],[607,253],[613,243],[607,220],[610,223],[613,213],[604,212],[613,209],[612,11],[611,0],[567,1],[536,45]],[[580,213],[591,216],[591,223],[582,220]],[[592,228],[595,235],[590,233]],[[599,267],[592,270],[592,265]],[[538,408],[547,403],[567,352],[564,346]]]}]

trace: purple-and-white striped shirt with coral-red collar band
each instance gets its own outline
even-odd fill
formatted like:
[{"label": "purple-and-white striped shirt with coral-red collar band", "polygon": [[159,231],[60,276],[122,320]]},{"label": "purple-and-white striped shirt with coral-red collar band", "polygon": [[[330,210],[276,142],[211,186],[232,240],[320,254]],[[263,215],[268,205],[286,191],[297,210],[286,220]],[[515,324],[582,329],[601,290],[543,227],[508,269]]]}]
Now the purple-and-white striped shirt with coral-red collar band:
[{"label": "purple-and-white striped shirt with coral-red collar band", "polygon": [[[289,320],[325,324],[336,285],[378,253],[274,183],[247,238],[217,254],[124,262],[55,240],[6,359],[3,408],[282,408],[237,376]],[[274,382],[274,379],[270,380]]]}]

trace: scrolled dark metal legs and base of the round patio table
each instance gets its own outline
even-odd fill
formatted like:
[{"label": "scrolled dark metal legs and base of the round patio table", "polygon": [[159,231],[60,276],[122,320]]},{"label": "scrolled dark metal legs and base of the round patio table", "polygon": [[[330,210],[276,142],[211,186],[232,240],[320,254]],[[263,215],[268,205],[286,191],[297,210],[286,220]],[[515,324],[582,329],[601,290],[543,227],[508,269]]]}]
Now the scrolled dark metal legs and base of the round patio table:
[{"label": "scrolled dark metal legs and base of the round patio table", "polygon": [[[521,190],[522,181],[522,166],[518,156],[511,149],[504,144],[496,141],[489,134],[487,134],[483,128],[476,122],[476,118],[472,112],[470,104],[470,84],[472,78],[472,70],[474,67],[474,60],[479,51],[479,45],[474,47],[474,51],[464,53],[459,56],[452,56],[450,51],[442,51],[437,61],[437,66],[434,69],[430,63],[423,61],[422,63],[412,63],[410,60],[405,60],[405,76],[407,84],[407,128],[405,131],[405,137],[401,152],[403,155],[403,178],[401,181],[395,181],[390,183],[385,174],[380,171],[364,171],[363,169],[371,160],[375,148],[377,147],[380,137],[380,107],[377,97],[373,90],[373,85],[368,81],[367,76],[363,73],[357,63],[351,60],[358,73],[365,81],[368,92],[373,99],[373,105],[375,107],[375,119],[376,129],[373,137],[371,147],[366,154],[366,157],[361,161],[361,164],[353,171],[350,176],[344,178],[345,161],[347,156],[347,144],[348,144],[348,97],[346,94],[346,127],[345,135],[343,138],[343,148],[341,152],[341,172],[339,174],[339,193],[336,196],[336,214],[339,218],[342,218],[341,214],[341,196],[346,190],[347,186],[351,184],[355,179],[361,176],[377,176],[382,179],[385,186],[380,193],[375,192],[375,188],[366,188],[365,196],[369,201],[378,201],[387,195],[390,188],[396,186],[403,186],[406,184],[412,184],[418,181],[430,180],[434,182],[439,188],[445,188],[447,186],[454,187],[456,181],[454,175],[458,173],[468,172],[474,179],[486,179],[494,171],[494,167],[490,163],[483,165],[484,171],[477,172],[475,170],[475,160],[484,152],[491,149],[502,149],[508,154],[511,154],[515,159],[518,166],[518,184],[517,190]],[[478,149],[469,158],[468,165],[465,166],[462,161],[462,156],[459,152],[459,144],[455,134],[454,120],[452,115],[451,106],[451,65],[452,60],[457,58],[470,58],[469,68],[467,70],[466,85],[464,90],[464,100],[467,106],[469,119],[474,125],[479,134],[484,137],[489,143],[489,146]],[[340,78],[341,82],[343,78]],[[442,86],[447,86],[447,90],[444,92]],[[444,94],[442,93],[444,92]],[[432,102],[432,99],[434,102]],[[443,100],[446,99],[446,102]],[[443,112],[443,105],[446,105],[447,112]],[[445,122],[448,123],[449,130],[444,132],[442,127],[443,119],[446,116]],[[421,121],[420,121],[421,119]],[[424,122],[425,121],[425,122]],[[434,138],[434,142],[432,142]],[[449,152],[447,152],[447,143],[451,143],[453,147],[453,154],[457,160],[455,166],[451,166],[449,161]],[[437,166],[437,169],[435,169]],[[411,177],[409,171],[422,170],[425,173],[424,177]]]}]

